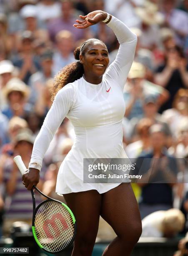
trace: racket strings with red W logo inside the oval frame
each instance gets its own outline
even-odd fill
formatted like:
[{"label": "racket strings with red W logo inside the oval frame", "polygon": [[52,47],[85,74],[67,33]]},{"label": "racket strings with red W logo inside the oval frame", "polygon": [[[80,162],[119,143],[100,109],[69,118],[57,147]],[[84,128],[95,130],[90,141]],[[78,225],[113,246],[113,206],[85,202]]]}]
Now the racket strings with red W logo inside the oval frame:
[{"label": "racket strings with red W logo inside the oval frame", "polygon": [[62,250],[68,246],[74,235],[74,223],[70,212],[58,202],[45,202],[35,215],[35,233],[46,250]]}]

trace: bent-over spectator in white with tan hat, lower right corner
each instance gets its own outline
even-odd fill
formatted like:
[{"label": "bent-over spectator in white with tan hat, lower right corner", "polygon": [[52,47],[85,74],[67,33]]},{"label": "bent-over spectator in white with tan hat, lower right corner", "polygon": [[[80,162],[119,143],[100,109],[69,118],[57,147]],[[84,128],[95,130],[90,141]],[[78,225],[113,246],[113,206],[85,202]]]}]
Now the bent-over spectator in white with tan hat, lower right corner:
[{"label": "bent-over spectator in white with tan hat, lower right corner", "polygon": [[172,238],[183,230],[185,217],[178,209],[156,211],[142,220],[142,237]]}]

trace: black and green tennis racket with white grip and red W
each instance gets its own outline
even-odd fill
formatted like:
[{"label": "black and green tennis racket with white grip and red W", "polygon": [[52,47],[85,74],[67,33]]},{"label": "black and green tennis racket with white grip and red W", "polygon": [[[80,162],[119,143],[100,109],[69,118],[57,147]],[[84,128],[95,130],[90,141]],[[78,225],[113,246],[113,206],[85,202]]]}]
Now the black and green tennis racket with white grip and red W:
[{"label": "black and green tennis racket with white grip and red W", "polygon": [[[21,156],[15,156],[14,161],[21,174],[27,170]],[[48,198],[35,207],[33,189]],[[59,253],[68,248],[74,241],[76,221],[73,212],[63,202],[44,195],[37,187],[31,189],[33,199],[32,230],[35,241],[44,251]]]}]

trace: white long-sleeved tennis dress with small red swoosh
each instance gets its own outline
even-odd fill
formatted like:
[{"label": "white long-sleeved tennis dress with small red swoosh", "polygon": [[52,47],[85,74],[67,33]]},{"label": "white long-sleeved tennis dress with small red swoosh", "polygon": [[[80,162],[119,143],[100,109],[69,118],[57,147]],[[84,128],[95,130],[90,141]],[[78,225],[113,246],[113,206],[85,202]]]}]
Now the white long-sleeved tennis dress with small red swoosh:
[{"label": "white long-sleeved tennis dress with small red swoosh", "polygon": [[66,84],[55,96],[35,139],[29,167],[40,170],[50,141],[65,116],[74,126],[74,145],[58,172],[58,194],[90,189],[104,193],[117,187],[117,183],[83,183],[83,158],[127,158],[122,142],[123,87],[133,62],[137,36],[115,17],[107,26],[114,31],[120,47],[115,61],[103,75],[103,81],[90,84],[81,77]]}]

